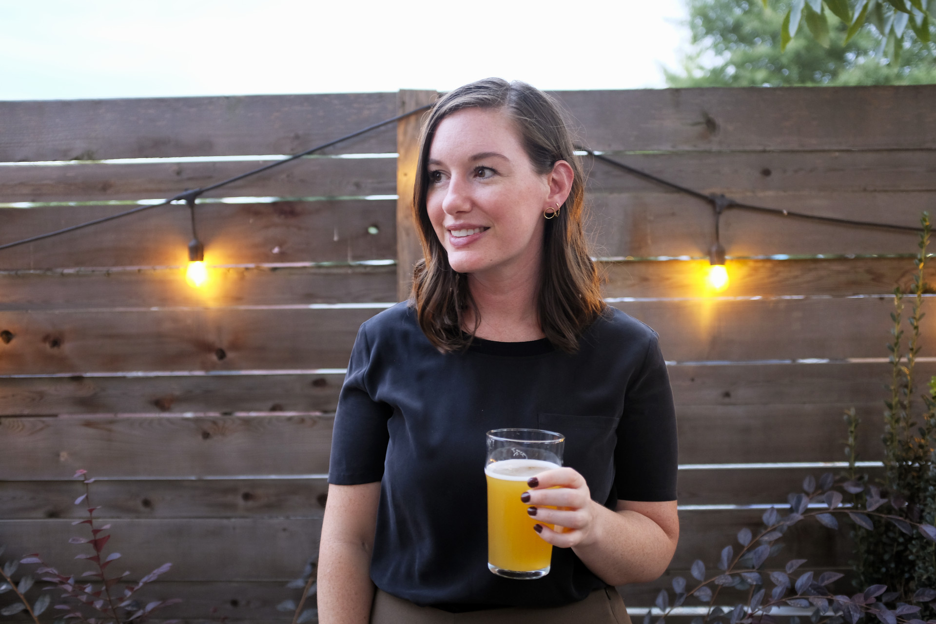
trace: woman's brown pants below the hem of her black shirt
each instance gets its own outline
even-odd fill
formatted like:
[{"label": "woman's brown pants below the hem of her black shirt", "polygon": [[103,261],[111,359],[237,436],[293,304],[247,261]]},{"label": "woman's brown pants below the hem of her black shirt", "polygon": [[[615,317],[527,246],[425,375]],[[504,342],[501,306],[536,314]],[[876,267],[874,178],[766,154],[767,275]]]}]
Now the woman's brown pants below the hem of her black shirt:
[{"label": "woman's brown pants below the hem of her black shirt", "polygon": [[391,596],[377,589],[371,624],[631,624],[615,588],[595,589],[580,602],[546,609],[506,607],[448,613]]}]

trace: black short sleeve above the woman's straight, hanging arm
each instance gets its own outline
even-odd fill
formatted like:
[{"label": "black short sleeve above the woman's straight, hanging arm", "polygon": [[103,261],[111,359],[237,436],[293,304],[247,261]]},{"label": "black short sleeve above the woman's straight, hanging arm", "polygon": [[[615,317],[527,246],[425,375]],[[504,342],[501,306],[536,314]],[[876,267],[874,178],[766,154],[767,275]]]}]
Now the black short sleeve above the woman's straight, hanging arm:
[{"label": "black short sleeve above the woman's straight, hanging arm", "polygon": [[393,414],[387,403],[373,399],[373,349],[365,326],[351,350],[344,385],[338,398],[331,434],[329,484],[356,486],[380,481],[384,476],[389,434],[387,421]]}]

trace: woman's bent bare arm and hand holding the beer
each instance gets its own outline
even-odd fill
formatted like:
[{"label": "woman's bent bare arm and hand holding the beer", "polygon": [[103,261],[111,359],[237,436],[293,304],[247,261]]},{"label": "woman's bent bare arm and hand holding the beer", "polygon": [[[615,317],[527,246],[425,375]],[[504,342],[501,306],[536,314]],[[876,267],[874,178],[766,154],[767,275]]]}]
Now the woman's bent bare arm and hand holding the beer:
[{"label": "woman's bent bare arm and hand holding the beer", "polygon": [[[538,486],[529,491],[529,504],[536,509],[531,515],[565,528],[556,532],[542,527],[540,537],[549,544],[572,548],[608,585],[645,583],[666,571],[680,539],[676,501],[618,501],[617,511],[611,511],[592,501],[585,479],[571,468],[537,477]],[[552,486],[560,487],[547,489]]]}]

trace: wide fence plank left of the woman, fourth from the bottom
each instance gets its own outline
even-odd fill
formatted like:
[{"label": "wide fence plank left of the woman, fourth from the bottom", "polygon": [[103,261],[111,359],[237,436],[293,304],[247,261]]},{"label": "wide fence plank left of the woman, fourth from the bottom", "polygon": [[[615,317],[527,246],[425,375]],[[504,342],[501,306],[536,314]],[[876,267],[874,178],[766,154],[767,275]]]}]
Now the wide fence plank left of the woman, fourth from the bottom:
[{"label": "wide fence plank left of the woman, fourth from the bottom", "polygon": [[[329,416],[0,418],[0,480],[322,474]],[[7,442],[9,441],[9,442]]]}]

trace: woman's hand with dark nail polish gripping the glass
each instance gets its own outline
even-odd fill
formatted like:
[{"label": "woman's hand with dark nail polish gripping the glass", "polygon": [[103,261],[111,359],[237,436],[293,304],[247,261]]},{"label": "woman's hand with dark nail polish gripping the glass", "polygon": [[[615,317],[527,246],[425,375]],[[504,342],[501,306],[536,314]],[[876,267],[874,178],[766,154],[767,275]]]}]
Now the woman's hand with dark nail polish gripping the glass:
[{"label": "woman's hand with dark nail polish gripping the glass", "polygon": [[[531,477],[527,485],[530,489],[523,492],[520,501],[530,505],[527,513],[537,520],[541,538],[560,548],[590,544],[595,539],[597,503],[592,501],[585,477],[571,468],[557,468]],[[546,524],[556,525],[557,530]]]}]

